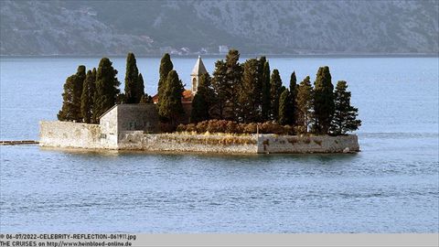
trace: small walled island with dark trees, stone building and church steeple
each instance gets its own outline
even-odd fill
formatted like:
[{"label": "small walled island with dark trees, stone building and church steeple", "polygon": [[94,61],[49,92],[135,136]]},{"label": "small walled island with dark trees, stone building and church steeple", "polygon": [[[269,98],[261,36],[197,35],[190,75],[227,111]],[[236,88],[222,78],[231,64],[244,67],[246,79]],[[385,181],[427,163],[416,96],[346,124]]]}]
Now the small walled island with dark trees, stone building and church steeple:
[{"label": "small walled island with dark trees, stone building and church steeple", "polygon": [[157,94],[145,82],[133,53],[126,59],[124,91],[118,71],[102,58],[98,69],[83,65],[67,78],[59,121],[40,122],[41,146],[150,152],[229,154],[353,153],[358,109],[346,81],[334,88],[329,68],[283,86],[268,59],[247,59],[230,49],[212,76],[198,56],[190,90],[169,54],[160,62]]}]

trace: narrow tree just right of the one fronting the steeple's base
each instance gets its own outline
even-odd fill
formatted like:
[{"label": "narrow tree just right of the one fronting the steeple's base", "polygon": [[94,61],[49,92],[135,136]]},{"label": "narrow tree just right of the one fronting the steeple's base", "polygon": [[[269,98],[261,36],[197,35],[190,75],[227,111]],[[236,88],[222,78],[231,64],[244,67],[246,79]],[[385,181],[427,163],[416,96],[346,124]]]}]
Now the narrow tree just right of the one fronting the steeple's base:
[{"label": "narrow tree just right of the one fronting the steeple's base", "polygon": [[212,86],[216,96],[216,116],[217,119],[225,119],[227,102],[229,102],[229,85],[226,79],[227,67],[224,60],[215,62],[213,71]]}]

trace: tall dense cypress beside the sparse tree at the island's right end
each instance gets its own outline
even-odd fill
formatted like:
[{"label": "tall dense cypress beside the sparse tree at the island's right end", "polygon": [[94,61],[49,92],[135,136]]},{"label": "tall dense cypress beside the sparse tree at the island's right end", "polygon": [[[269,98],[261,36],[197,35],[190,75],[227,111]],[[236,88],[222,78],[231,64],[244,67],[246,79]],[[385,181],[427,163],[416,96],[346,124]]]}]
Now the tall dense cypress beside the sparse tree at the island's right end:
[{"label": "tall dense cypress beside the sparse tree at the island's right end", "polygon": [[314,125],[316,134],[327,134],[334,115],[334,85],[327,66],[320,67],[314,83]]}]

